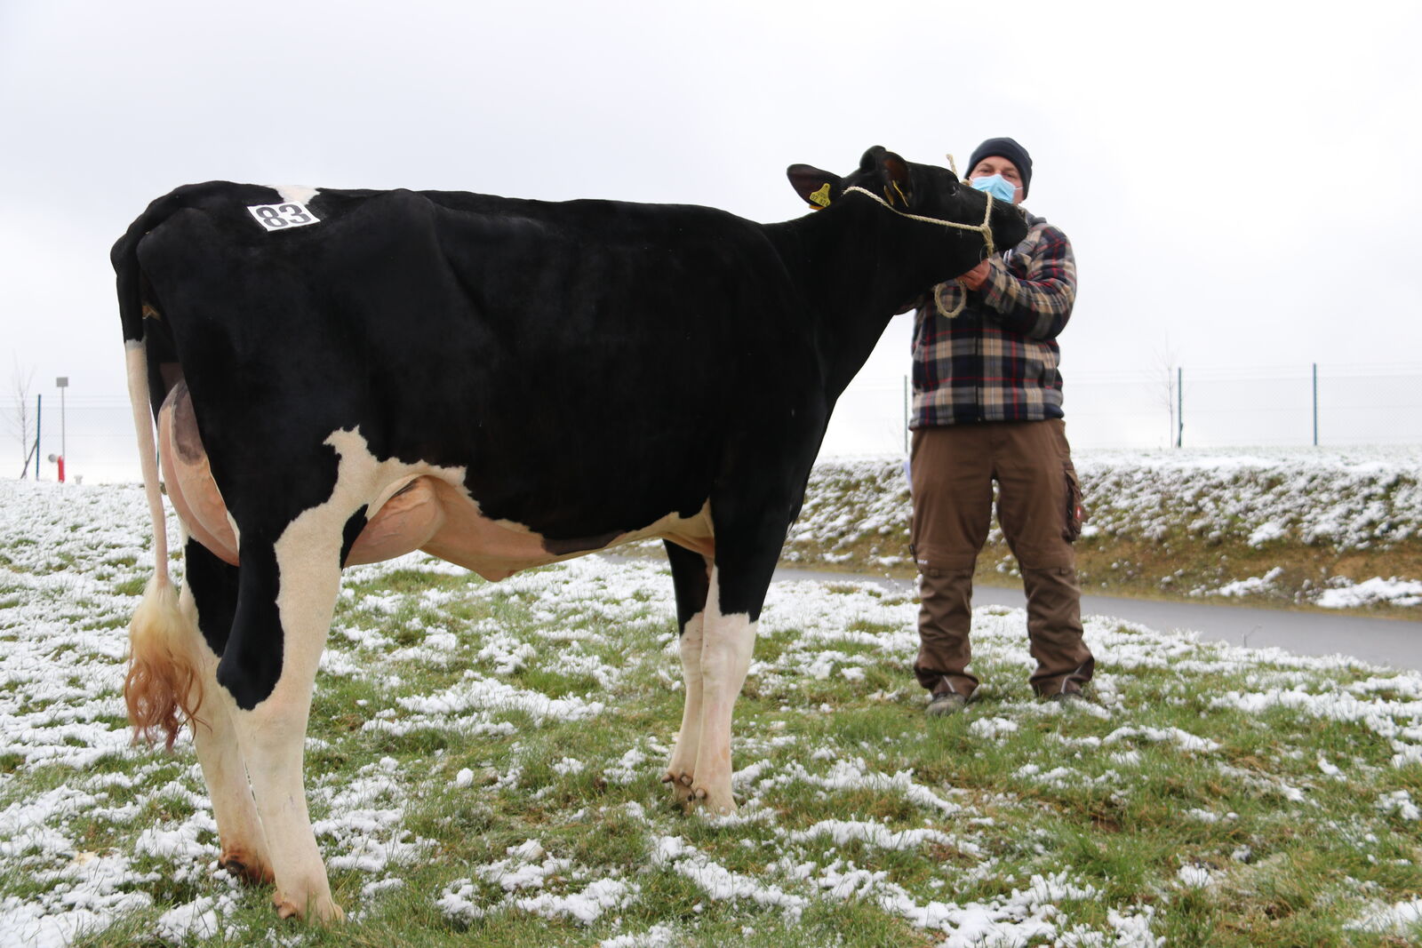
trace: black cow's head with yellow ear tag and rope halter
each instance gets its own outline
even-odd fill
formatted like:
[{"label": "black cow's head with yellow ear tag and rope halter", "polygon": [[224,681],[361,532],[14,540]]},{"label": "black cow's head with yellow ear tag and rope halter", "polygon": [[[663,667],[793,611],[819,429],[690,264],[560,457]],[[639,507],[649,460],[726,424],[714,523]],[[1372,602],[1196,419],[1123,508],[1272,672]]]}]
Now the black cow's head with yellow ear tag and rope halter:
[{"label": "black cow's head with yellow ear tag and rope halter", "polygon": [[[960,182],[947,168],[906,162],[880,145],[866,151],[859,169],[843,178],[809,165],[791,165],[786,175],[796,193],[816,210],[850,200],[877,200],[916,217],[968,227],[987,223],[993,235],[991,246],[998,253],[1027,236],[1027,219],[1021,209],[994,200],[988,213],[987,195]],[[954,263],[961,264],[958,273],[970,270],[985,256],[985,235],[977,230],[944,227],[943,236]]]}]

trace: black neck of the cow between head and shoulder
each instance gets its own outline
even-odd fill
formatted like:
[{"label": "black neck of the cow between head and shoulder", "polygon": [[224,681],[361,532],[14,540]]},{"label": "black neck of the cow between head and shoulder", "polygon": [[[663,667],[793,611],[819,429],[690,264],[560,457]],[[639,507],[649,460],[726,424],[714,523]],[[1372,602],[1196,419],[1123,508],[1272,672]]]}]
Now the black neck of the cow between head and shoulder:
[{"label": "black neck of the cow between head and shoulder", "polygon": [[951,244],[923,227],[869,200],[771,226],[819,330],[830,399],[863,367],[890,317],[953,276]]}]

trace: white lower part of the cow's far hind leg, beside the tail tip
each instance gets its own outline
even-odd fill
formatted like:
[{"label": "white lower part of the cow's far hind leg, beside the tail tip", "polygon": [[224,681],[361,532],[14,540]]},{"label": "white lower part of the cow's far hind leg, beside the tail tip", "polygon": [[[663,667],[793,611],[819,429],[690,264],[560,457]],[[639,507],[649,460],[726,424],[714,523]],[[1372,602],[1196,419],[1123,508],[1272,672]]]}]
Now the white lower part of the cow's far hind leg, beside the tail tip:
[{"label": "white lower part of the cow's far hind leg, beside the tail tip", "polygon": [[198,604],[186,584],[179,594],[178,607],[192,628],[191,648],[202,672],[203,702],[198,712],[201,723],[193,728],[193,745],[208,796],[212,797],[212,814],[218,820],[220,861],[249,881],[269,883],[272,858],[252,800],[237,735],[232,728],[232,696],[218,684],[218,657],[208,648],[208,641],[198,628]]}]

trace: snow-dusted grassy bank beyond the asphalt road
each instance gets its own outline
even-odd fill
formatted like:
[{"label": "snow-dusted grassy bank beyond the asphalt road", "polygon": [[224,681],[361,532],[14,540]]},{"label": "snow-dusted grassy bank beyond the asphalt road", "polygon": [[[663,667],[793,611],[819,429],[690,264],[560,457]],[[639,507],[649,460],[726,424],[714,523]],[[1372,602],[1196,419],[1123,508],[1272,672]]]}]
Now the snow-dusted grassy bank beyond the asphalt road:
[{"label": "snow-dusted grassy bank beyond the asphalt road", "polygon": [[[1422,448],[1082,451],[1075,466],[1089,515],[1078,560],[1094,587],[1422,605],[1422,576],[1355,574],[1385,569],[1376,554],[1391,550],[1416,563]],[[785,559],[909,570],[909,512],[902,458],[820,462]],[[1140,563],[1142,547],[1169,556]],[[994,559],[997,571],[1015,574],[995,524],[984,563]]]}]

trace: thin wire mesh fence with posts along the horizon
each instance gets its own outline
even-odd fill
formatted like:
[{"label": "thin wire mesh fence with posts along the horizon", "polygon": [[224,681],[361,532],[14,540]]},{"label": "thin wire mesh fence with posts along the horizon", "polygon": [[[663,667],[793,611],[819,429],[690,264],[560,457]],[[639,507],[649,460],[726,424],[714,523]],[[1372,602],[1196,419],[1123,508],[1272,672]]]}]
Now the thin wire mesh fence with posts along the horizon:
[{"label": "thin wire mesh fence with posts along the horizon", "polygon": [[[1163,448],[1176,441],[1193,448],[1422,445],[1422,365],[1186,365],[1064,375],[1074,448]],[[839,399],[820,455],[906,451],[907,404],[907,377],[860,375]],[[34,442],[33,397],[24,439],[17,408],[13,398],[0,406],[0,476],[6,478],[20,476]],[[70,397],[64,438],[71,479],[138,479],[127,398]],[[44,398],[40,451],[40,476],[54,480],[57,466],[47,458],[60,452],[60,399],[53,395]]]}]

